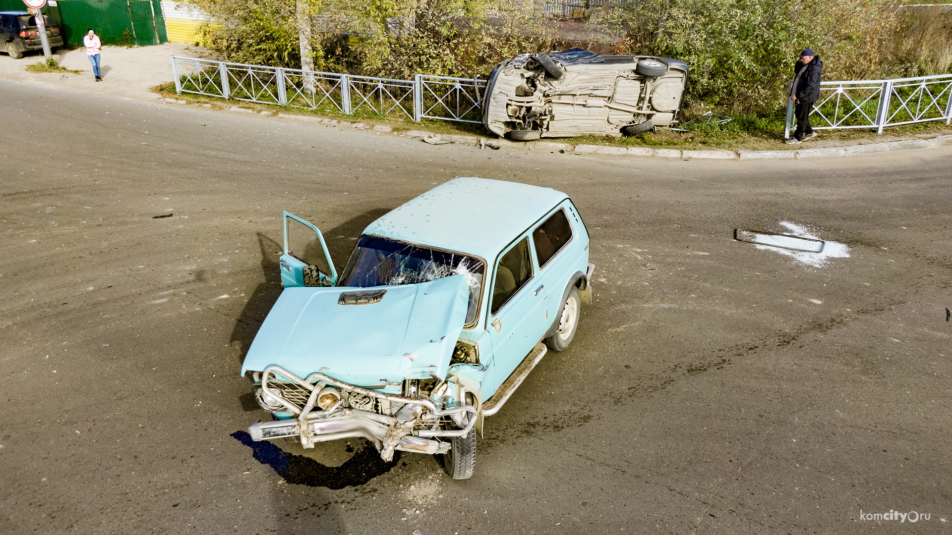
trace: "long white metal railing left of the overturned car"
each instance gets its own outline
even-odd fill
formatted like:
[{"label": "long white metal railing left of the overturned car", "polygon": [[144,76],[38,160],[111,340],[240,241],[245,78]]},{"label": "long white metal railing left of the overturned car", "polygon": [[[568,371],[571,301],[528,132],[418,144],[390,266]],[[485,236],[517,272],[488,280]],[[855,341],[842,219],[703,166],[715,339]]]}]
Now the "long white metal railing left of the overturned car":
[{"label": "long white metal railing left of the overturned car", "polygon": [[480,123],[486,80],[417,74],[413,80],[263,67],[171,56],[176,93],[196,93],[347,115]]}]

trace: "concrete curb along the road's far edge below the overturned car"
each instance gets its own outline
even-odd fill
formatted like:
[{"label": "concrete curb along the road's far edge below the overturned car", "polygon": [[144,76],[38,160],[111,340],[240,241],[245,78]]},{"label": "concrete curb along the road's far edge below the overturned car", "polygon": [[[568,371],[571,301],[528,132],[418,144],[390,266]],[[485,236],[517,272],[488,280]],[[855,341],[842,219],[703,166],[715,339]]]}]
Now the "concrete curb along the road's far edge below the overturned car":
[{"label": "concrete curb along the road's far edge below the overturned car", "polygon": [[[181,104],[184,101],[164,99],[169,104]],[[233,106],[229,111],[238,111],[241,113],[253,113],[247,108]],[[269,115],[266,111],[260,111],[263,115]],[[561,152],[572,154],[605,154],[609,156],[640,156],[653,158],[680,158],[684,160],[790,160],[807,158],[844,158],[848,156],[859,156],[863,154],[876,154],[881,152],[892,152],[897,150],[921,150],[938,149],[940,147],[952,146],[952,134],[940,135],[929,139],[909,139],[903,141],[890,141],[884,143],[871,143],[866,145],[852,145],[848,147],[823,147],[816,149],[794,149],[794,150],[703,150],[703,149],[651,149],[648,147],[613,147],[606,145],[572,145],[570,143],[560,143],[555,141],[529,141],[513,142],[502,138],[478,137],[473,135],[459,134],[438,134],[423,130],[409,130],[406,132],[393,132],[392,128],[377,125],[370,127],[363,123],[348,123],[338,119],[322,119],[312,115],[296,115],[291,113],[277,113],[277,116],[285,119],[306,121],[308,123],[320,123],[328,127],[350,127],[352,129],[374,130],[379,133],[390,133],[393,135],[426,138],[441,137],[460,145],[481,147],[481,143],[491,143],[501,147],[528,150],[548,150],[549,152]]]}]

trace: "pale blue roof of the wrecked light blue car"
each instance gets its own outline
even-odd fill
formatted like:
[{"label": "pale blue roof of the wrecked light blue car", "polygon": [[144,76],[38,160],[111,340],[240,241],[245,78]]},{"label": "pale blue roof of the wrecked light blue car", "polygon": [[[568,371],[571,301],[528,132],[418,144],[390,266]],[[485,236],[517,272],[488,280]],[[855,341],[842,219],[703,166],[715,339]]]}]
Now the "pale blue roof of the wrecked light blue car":
[{"label": "pale blue roof of the wrecked light blue car", "polygon": [[567,198],[552,188],[456,178],[394,208],[364,233],[465,252],[492,263],[506,245]]}]

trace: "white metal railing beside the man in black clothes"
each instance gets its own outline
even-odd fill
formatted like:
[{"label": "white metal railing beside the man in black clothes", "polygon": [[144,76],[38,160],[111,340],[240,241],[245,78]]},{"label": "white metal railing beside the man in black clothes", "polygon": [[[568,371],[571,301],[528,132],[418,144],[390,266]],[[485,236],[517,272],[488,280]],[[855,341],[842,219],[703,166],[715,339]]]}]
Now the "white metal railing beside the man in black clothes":
[{"label": "white metal railing beside the man in black clothes", "polygon": [[[925,123],[952,122],[952,74],[821,82],[820,98],[810,109],[810,124],[823,129],[876,129]],[[816,123],[816,126],[814,126]],[[787,99],[783,137],[793,129],[793,101]]]}]

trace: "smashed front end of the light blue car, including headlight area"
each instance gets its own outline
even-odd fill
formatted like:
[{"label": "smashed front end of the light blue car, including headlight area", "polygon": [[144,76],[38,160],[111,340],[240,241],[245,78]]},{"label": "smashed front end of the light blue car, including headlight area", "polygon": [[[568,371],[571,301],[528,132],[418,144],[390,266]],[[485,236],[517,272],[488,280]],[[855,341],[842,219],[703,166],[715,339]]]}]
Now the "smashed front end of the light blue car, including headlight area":
[{"label": "smashed front end of the light blue car, including headlight area", "polygon": [[446,453],[445,439],[461,437],[476,425],[477,411],[466,404],[466,387],[443,381],[407,379],[401,395],[349,385],[321,372],[305,378],[284,367],[254,373],[255,398],[269,412],[290,413],[287,420],[255,422],[255,441],[298,437],[301,446],[363,437],[384,461],[395,450]]}]

